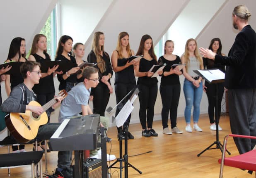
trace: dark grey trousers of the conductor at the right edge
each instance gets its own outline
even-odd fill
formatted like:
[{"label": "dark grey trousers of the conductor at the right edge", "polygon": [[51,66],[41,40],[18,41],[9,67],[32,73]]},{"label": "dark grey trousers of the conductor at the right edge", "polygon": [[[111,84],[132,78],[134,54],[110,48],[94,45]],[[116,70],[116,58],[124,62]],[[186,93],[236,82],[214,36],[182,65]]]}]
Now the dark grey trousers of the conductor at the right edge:
[{"label": "dark grey trousers of the conductor at the right edge", "polygon": [[[229,121],[232,134],[256,136],[256,88],[229,89]],[[234,138],[240,154],[251,151],[255,139]]]}]

